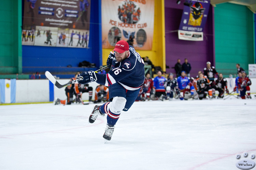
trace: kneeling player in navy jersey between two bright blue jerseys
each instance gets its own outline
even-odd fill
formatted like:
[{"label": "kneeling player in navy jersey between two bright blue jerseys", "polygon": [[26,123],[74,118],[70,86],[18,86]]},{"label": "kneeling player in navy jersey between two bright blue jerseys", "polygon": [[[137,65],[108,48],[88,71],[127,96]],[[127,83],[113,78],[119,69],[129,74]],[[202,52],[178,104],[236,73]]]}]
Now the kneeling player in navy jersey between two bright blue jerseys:
[{"label": "kneeling player in navy jersey between two bright blue jerseys", "polygon": [[166,93],[167,93],[167,98],[169,97],[169,100],[173,99],[174,89],[175,89],[177,95],[179,95],[180,91],[178,88],[178,82],[176,79],[173,78],[173,73],[170,73],[168,80],[166,82]]}]

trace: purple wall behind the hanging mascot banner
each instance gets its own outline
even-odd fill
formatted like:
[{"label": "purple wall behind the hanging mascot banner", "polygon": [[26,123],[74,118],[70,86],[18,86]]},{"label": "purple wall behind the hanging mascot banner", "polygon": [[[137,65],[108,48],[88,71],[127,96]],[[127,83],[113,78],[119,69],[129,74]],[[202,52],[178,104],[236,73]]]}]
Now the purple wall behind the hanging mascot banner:
[{"label": "purple wall behind the hanging mascot banner", "polygon": [[203,31],[204,40],[180,40],[178,38],[178,32],[168,32],[179,29],[184,2],[185,0],[181,0],[181,3],[178,5],[176,4],[176,0],[165,0],[166,65],[170,67],[166,69],[166,72],[175,73],[172,67],[177,63],[177,59],[180,58],[181,64],[183,64],[184,58],[188,58],[188,62],[192,67],[190,76],[195,77],[198,71],[203,71],[207,61],[210,61],[212,66],[215,66],[213,7],[210,5],[207,22]]}]

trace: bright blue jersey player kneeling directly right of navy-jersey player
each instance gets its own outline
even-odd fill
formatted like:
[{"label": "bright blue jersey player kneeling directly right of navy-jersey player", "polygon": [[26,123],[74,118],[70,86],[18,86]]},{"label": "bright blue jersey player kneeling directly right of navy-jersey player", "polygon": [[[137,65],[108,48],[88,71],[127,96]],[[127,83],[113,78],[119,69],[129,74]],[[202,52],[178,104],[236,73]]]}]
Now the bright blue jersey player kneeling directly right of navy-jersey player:
[{"label": "bright blue jersey player kneeling directly right of navy-jersey player", "polygon": [[182,71],[181,76],[177,78],[181,100],[183,100],[184,97],[186,100],[188,98],[191,98],[191,96],[194,95],[194,91],[195,91],[194,86],[190,83],[189,79],[185,75],[186,75],[186,72]]}]

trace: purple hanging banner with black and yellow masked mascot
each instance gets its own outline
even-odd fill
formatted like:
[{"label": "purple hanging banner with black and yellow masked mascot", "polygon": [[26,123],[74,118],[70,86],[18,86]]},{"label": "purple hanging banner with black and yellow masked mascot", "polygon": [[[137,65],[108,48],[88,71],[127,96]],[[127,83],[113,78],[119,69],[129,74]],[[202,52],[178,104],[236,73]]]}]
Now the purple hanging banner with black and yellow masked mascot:
[{"label": "purple hanging banner with black and yellow masked mascot", "polygon": [[203,28],[209,7],[210,1],[208,0],[191,0],[184,4],[178,31],[179,39],[203,41]]}]

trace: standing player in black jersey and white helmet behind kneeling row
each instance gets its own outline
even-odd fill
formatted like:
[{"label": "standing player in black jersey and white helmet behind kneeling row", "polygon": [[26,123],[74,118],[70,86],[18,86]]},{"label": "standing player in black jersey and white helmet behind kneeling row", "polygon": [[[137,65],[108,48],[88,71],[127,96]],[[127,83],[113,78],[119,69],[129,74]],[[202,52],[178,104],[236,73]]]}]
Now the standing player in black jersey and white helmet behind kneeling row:
[{"label": "standing player in black jersey and white helmet behind kneeling row", "polygon": [[[214,86],[214,76],[215,74],[218,75],[217,71],[215,70],[215,67],[211,66],[211,62],[207,62],[207,67],[203,69],[203,74],[207,76],[208,80],[210,81],[210,86]],[[212,84],[213,83],[213,84]],[[214,92],[212,92],[212,88],[209,87],[208,91],[209,97],[215,97]]]}]

